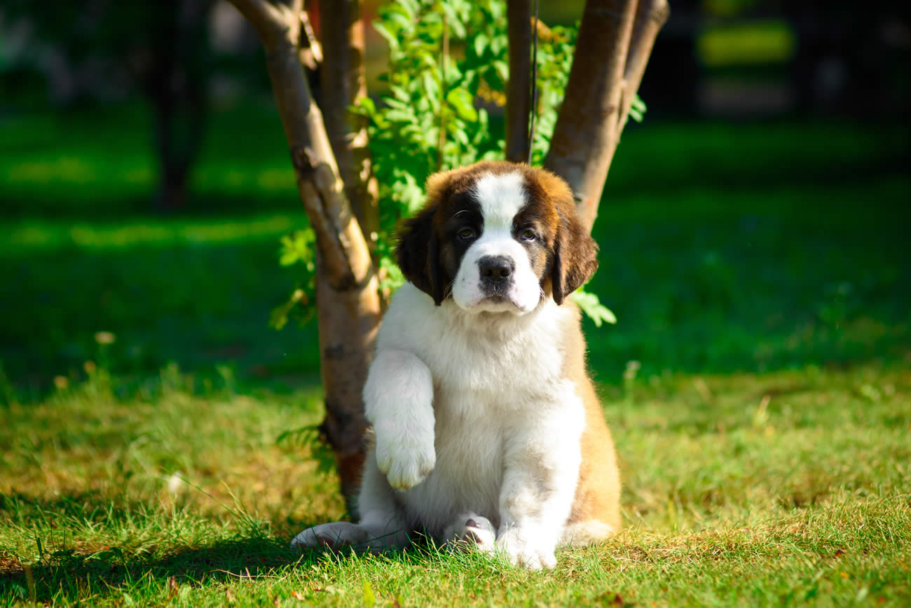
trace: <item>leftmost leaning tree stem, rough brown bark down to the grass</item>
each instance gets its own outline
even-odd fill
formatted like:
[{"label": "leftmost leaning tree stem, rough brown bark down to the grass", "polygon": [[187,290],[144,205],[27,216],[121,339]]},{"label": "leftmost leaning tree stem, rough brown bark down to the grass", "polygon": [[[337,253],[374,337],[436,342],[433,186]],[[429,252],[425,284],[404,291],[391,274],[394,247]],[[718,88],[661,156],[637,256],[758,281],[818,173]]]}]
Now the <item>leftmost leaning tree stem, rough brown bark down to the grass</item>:
[{"label": "leftmost leaning tree stem, rough brown bark down to the grass", "polygon": [[348,509],[356,517],[353,497],[363,465],[366,428],[361,388],[380,323],[374,264],[300,63],[302,0],[293,0],[290,6],[265,0],[231,1],[256,28],[265,47],[298,194],[316,234],[316,305],[326,403],[322,431],[335,452]]}]

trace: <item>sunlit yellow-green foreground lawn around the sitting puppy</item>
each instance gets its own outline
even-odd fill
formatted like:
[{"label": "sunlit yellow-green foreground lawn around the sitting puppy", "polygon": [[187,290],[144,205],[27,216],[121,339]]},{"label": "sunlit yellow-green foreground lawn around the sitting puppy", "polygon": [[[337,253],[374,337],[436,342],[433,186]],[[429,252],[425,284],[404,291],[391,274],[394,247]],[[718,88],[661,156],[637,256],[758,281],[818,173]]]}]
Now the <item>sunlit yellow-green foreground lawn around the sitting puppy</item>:
[{"label": "sunlit yellow-green foreground lawn around the sitting puppy", "polygon": [[608,390],[628,527],[537,574],[431,546],[292,552],[293,533],[343,515],[307,448],[276,442],[319,420],[318,393],[189,381],[117,398],[96,372],[0,410],[0,603],[341,606],[369,603],[365,584],[402,605],[911,602],[907,370]]}]

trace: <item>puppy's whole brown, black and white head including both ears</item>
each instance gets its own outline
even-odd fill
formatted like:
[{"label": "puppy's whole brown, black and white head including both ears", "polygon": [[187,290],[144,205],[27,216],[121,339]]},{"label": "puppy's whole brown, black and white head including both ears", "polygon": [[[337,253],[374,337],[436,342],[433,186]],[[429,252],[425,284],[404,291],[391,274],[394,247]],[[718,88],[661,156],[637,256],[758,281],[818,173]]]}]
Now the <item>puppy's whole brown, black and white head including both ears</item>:
[{"label": "puppy's whole brown, black and white head including both ears", "polygon": [[426,192],[396,256],[437,305],[525,314],[550,297],[562,304],[598,268],[569,187],[548,171],[482,162],[431,176]]}]

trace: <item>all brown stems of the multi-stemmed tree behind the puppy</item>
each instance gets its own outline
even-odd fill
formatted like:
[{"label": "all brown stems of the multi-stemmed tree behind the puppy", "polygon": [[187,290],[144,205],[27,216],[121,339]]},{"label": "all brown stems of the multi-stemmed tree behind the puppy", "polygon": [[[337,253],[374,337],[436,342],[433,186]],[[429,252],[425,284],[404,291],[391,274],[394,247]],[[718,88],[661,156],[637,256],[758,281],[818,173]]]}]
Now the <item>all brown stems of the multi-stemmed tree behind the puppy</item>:
[{"label": "all brown stems of the multi-stemmed tree behind the puppy", "polygon": [[[325,124],[301,65],[302,0],[292,0],[291,5],[231,2],[254,25],[265,47],[298,194],[316,234],[317,316],[326,395],[322,431],[335,451],[342,490],[356,517],[353,494],[363,465],[366,428],[361,390],[381,309],[374,262],[359,224],[360,219],[363,226],[374,226],[377,216],[376,197],[369,187],[365,129],[346,111],[364,87],[357,2],[343,3],[344,10],[333,5],[332,12],[323,11]],[[565,177],[578,194],[589,229],[631,96],[666,16],[666,0],[588,0],[586,4],[567,96],[545,166]],[[530,36],[523,37],[529,17],[527,5],[509,0],[510,44],[517,52],[510,54],[507,154],[517,160],[524,159],[519,156],[527,155],[529,145]]]}]

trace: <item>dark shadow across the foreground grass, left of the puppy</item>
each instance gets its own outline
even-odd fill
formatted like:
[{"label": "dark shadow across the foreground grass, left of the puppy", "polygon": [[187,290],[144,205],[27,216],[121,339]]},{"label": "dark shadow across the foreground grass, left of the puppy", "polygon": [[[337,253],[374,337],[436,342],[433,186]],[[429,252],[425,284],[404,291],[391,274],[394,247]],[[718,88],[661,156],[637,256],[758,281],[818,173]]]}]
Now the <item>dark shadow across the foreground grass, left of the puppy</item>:
[{"label": "dark shadow across the foreground grass, left of the puppy", "polygon": [[[19,522],[20,530],[34,526],[27,533],[28,543],[37,542],[39,555],[29,562],[21,560],[11,548],[0,546],[0,599],[39,603],[77,602],[119,593],[143,593],[154,599],[167,600],[171,590],[180,585],[200,587],[236,579],[255,580],[273,576],[286,568],[308,568],[313,564],[351,555],[352,550],[322,552],[290,547],[290,537],[276,537],[251,525],[233,535],[199,542],[197,546],[180,546],[169,538],[168,548],[146,544],[140,549],[69,542],[49,550],[42,536],[67,538],[70,522],[97,530],[119,523],[136,524],[148,503],[98,492],[40,498],[15,492],[0,496],[0,522]],[[160,514],[159,514],[160,515]],[[283,522],[282,527],[303,530],[313,525]],[[137,532],[138,533],[138,532]],[[162,537],[167,534],[162,534]],[[77,548],[78,547],[78,548]],[[413,550],[389,554],[410,562],[425,559],[429,549],[419,543]],[[25,563],[24,563],[25,562]],[[155,598],[155,593],[162,595]],[[150,598],[150,599],[152,599]]]}]

